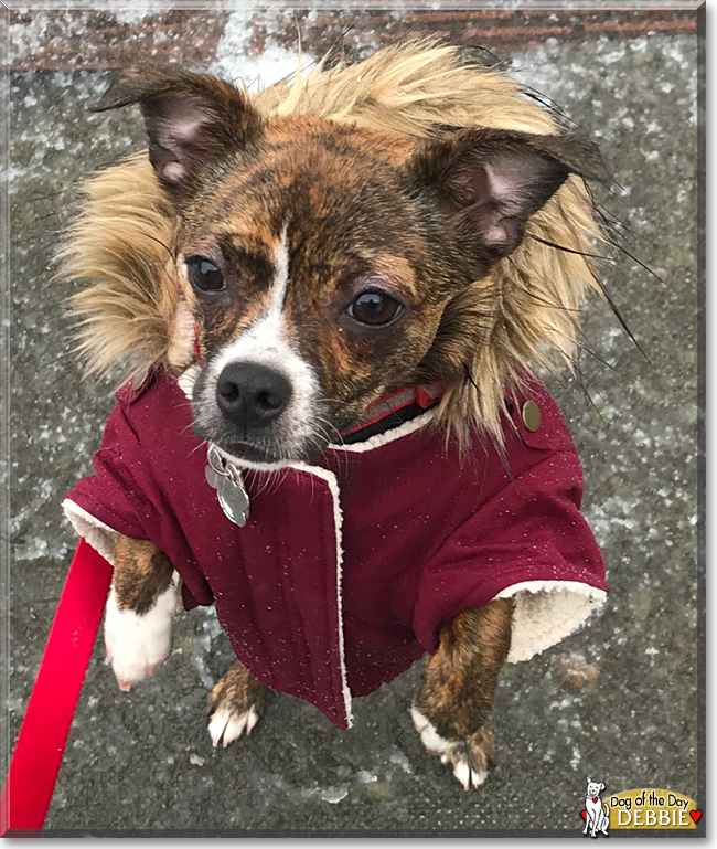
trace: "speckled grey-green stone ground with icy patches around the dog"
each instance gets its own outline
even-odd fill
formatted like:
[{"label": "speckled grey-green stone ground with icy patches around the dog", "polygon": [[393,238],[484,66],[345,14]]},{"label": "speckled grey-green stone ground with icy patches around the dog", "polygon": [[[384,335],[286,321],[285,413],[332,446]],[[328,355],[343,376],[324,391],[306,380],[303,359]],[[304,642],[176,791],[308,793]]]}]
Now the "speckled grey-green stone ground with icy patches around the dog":
[{"label": "speckled grey-green stone ground with icy patches around the dog", "polygon": [[[127,64],[132,50],[265,82],[296,55],[288,13],[104,14],[11,21],[10,741],[75,544],[60,501],[89,471],[113,403],[109,384],[82,378],[61,310],[69,289],[47,270],[77,181],[143,146],[137,113],[87,107],[107,68]],[[494,711],[501,762],[480,794],[465,794],[421,749],[408,715],[418,666],[357,700],[351,731],[277,694],[249,740],[214,751],[203,711],[231,657],[211,611],[179,617],[170,659],[129,694],[98,640],[46,826],[570,834],[582,825],[587,775],[608,793],[661,787],[704,803],[694,13],[301,14],[308,59],[351,23],[355,55],[425,30],[500,49],[523,82],[600,142],[624,188],[604,204],[664,283],[630,261],[606,264],[603,279],[645,355],[595,303],[585,336],[595,355],[584,353],[578,378],[553,384],[585,464],[585,511],[603,549],[609,603],[563,644],[506,669]]]}]

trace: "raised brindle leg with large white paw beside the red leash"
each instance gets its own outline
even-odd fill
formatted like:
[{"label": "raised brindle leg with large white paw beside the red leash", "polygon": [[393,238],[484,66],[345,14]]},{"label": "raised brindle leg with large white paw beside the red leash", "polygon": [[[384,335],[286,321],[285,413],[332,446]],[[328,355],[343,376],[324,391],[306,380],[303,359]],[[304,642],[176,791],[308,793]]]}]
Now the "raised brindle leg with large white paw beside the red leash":
[{"label": "raised brindle leg with large white paw beside the red leash", "polygon": [[105,614],[105,648],[127,692],[169,657],[179,587],[164,552],[148,540],[118,537]]}]

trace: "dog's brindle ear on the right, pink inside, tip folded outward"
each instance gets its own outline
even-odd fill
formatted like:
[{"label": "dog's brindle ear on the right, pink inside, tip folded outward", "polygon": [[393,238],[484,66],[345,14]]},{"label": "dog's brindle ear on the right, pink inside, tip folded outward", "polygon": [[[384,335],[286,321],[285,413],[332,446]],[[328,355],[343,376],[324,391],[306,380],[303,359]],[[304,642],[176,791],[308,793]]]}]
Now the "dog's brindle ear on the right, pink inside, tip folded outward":
[{"label": "dog's brindle ear on the right, pink inside, tip folded outward", "polygon": [[432,190],[459,236],[472,240],[489,264],[517,247],[528,217],[568,174],[610,182],[598,148],[586,139],[484,128],[429,141],[404,168],[410,188]]}]

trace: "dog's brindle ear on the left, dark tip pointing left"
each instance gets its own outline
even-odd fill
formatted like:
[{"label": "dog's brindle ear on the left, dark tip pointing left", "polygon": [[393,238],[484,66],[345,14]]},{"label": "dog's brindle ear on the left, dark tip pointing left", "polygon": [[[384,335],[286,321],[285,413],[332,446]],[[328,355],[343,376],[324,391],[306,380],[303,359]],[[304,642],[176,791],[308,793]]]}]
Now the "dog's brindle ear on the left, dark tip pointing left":
[{"label": "dog's brindle ear on the left, dark tip pointing left", "polygon": [[205,74],[156,67],[124,72],[94,112],[139,104],[149,158],[170,198],[181,202],[199,177],[260,132],[261,120],[246,95]]}]

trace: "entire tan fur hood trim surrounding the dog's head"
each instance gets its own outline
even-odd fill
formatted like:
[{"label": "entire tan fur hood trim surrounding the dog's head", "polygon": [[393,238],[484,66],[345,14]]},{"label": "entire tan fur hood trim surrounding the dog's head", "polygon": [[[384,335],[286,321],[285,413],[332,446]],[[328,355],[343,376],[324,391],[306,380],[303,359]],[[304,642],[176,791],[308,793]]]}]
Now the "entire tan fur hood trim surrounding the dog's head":
[{"label": "entire tan fur hood trim surrounding the dog's head", "polygon": [[[355,64],[319,63],[252,97],[265,116],[317,115],[413,138],[441,127],[556,132],[549,113],[504,72],[464,61],[434,39],[406,41]],[[62,273],[93,284],[72,299],[81,350],[94,372],[128,362],[141,378],[156,361],[191,359],[172,255],[176,229],[147,153],[87,181],[85,205],[61,255]],[[473,426],[501,439],[505,394],[527,365],[570,364],[586,290],[598,288],[590,259],[602,238],[582,181],[570,177],[532,219],[520,247],[449,305],[459,329],[439,408],[449,432]],[[181,328],[178,329],[178,323]]]}]

